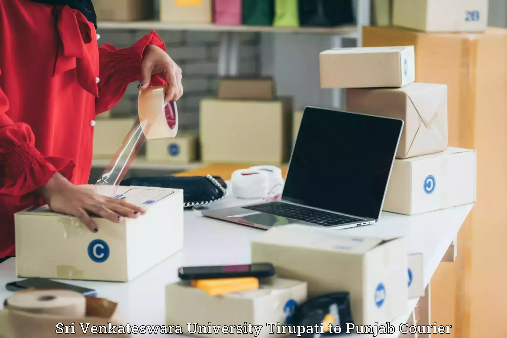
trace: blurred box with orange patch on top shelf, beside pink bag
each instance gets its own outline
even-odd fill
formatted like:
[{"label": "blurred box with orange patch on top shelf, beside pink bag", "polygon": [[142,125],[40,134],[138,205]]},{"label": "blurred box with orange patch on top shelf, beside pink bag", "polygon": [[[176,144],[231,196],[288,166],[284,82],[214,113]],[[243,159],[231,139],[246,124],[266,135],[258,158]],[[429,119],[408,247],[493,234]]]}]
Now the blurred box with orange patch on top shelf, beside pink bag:
[{"label": "blurred box with orange patch on top shelf, beside pink bag", "polygon": [[171,23],[210,24],[211,0],[160,0],[160,21]]}]

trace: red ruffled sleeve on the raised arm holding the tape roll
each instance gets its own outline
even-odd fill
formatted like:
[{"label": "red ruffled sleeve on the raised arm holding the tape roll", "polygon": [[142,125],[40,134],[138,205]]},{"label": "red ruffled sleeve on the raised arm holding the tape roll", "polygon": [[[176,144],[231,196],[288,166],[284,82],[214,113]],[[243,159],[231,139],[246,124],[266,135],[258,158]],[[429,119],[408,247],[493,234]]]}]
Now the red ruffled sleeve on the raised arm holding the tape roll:
[{"label": "red ruffled sleeve on the raised arm holding the tape roll", "polygon": [[[129,83],[140,81],[141,62],[144,49],[155,45],[165,51],[165,44],[156,31],[143,36],[132,47],[118,49],[111,44],[99,47],[100,82],[99,97],[95,102],[95,113],[111,109],[122,98]],[[153,78],[152,86],[165,84],[160,78]]]}]

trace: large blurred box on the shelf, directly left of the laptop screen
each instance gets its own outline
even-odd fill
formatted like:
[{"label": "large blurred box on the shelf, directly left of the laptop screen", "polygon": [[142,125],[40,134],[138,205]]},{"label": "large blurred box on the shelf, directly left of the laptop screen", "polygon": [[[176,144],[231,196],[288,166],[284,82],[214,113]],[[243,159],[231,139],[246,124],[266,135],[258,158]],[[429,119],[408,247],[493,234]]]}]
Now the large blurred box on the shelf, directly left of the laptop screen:
[{"label": "large blurred box on the shelf, directly left of the laptop screen", "polygon": [[202,162],[282,164],[290,154],[292,100],[203,99]]}]

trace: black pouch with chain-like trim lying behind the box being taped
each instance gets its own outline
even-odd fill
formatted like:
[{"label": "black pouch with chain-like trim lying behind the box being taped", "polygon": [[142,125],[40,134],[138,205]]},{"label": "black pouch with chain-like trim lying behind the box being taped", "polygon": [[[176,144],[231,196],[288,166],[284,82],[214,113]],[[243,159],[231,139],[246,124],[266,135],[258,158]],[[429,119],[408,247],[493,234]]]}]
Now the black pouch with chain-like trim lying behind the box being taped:
[{"label": "black pouch with chain-like trim lying behind the box being taped", "polygon": [[227,196],[227,184],[222,178],[213,177],[211,175],[190,177],[131,177],[121,181],[120,185],[183,189],[185,208],[215,203]]}]

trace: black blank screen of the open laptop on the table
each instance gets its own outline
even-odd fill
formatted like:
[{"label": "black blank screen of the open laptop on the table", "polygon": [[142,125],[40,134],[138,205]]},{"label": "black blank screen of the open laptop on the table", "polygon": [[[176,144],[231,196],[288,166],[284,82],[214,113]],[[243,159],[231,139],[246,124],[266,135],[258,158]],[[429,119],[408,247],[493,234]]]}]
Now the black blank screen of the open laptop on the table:
[{"label": "black blank screen of the open laptop on the table", "polygon": [[403,121],[307,107],[282,199],[378,219]]}]

